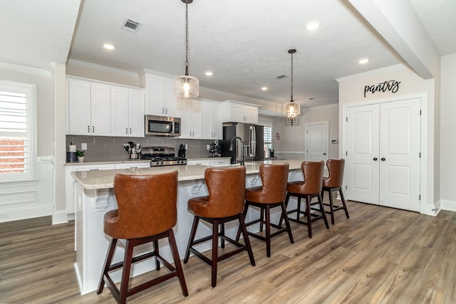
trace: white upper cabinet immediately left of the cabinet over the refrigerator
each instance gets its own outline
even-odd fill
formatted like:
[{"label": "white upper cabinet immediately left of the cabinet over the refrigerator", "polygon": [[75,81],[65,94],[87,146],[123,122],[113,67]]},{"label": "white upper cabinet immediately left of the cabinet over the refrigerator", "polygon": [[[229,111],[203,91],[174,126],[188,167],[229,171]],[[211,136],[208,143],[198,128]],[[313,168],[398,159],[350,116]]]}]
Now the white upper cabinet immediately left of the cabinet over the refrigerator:
[{"label": "white upper cabinet immediately left of the cabinet over the refrigerator", "polygon": [[222,140],[222,103],[202,100],[202,137],[205,140]]}]

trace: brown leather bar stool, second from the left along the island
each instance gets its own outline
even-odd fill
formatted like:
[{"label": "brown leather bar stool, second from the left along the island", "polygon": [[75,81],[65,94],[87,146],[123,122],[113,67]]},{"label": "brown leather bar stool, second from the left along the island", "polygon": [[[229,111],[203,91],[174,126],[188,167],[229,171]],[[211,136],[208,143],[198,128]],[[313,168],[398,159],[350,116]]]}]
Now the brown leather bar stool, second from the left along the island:
[{"label": "brown leather bar stool, second from the left along the island", "polygon": [[[245,167],[236,168],[207,168],[204,171],[204,179],[206,180],[208,196],[199,196],[188,201],[188,211],[195,215],[193,219],[192,230],[190,231],[190,239],[185,253],[184,263],[188,262],[190,253],[195,254],[212,267],[212,287],[217,285],[217,263],[234,256],[234,254],[247,251],[249,253],[250,263],[255,266],[254,254],[249,242],[249,236],[244,222],[244,198],[245,198]],[[207,221],[212,224],[212,235],[202,239],[195,240],[197,226],[199,220]],[[238,220],[244,236],[245,245],[230,239],[224,235],[224,223],[228,221]],[[220,226],[220,232],[219,232]],[[222,239],[222,248],[224,241],[232,243],[237,248],[227,253],[218,255],[218,238]],[[204,256],[197,251],[193,246],[212,240],[212,258]]]}]

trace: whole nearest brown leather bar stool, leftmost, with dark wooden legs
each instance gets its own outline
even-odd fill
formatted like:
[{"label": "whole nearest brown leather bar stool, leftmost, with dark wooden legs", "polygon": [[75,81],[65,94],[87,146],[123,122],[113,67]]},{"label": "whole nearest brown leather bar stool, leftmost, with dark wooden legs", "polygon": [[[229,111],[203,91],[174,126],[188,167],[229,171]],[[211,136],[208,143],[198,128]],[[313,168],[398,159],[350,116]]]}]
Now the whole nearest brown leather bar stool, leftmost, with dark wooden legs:
[{"label": "whole nearest brown leather bar stool, leftmost, with dark wooden legs", "polygon": [[[114,298],[119,303],[125,303],[128,296],[176,276],[179,278],[183,295],[187,296],[187,285],[172,232],[177,221],[177,171],[156,175],[117,174],[114,179],[114,193],[118,209],[105,214],[104,231],[112,239],[97,294],[103,291],[106,283]],[[175,266],[160,256],[158,240],[164,238],[170,243]],[[118,239],[126,240],[125,257],[123,261],[111,265]],[[150,242],[154,244],[153,251],[133,257],[135,246]],[[131,265],[154,256],[155,269],[160,270],[161,261],[170,272],[128,289]],[[110,277],[110,271],[119,268],[123,269],[120,290]]]}]

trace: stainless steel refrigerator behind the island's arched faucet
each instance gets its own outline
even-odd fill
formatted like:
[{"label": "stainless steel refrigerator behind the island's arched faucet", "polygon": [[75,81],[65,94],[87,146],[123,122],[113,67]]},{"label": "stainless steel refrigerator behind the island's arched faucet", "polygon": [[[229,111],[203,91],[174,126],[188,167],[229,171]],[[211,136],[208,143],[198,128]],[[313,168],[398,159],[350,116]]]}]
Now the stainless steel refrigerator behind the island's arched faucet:
[{"label": "stainless steel refrigerator behind the island's arched faucet", "polygon": [[[229,151],[229,145],[234,137],[242,138],[244,151],[242,151],[239,140],[234,141],[234,151]],[[231,157],[232,164],[240,162],[242,153],[244,153],[244,161],[263,159],[263,126],[241,122],[224,122],[221,149],[222,157]]]}]

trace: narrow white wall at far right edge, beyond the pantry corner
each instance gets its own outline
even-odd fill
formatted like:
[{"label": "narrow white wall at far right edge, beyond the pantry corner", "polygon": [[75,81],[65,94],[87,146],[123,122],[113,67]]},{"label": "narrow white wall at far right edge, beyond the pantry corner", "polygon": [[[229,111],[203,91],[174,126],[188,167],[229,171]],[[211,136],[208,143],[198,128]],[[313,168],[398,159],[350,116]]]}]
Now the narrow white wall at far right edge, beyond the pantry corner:
[{"label": "narrow white wall at far right edge, beyond the pantry corner", "polygon": [[440,201],[456,211],[456,53],[441,58]]}]

